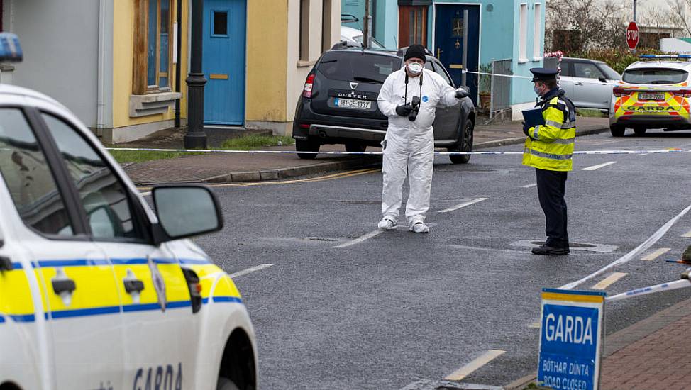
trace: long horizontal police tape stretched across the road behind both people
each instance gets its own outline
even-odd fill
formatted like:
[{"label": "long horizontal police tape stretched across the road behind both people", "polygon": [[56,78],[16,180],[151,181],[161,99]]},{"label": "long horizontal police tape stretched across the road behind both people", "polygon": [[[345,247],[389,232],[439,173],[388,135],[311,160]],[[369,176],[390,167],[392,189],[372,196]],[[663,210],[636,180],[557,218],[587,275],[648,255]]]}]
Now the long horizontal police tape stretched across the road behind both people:
[{"label": "long horizontal police tape stretched across the road behind both people", "polygon": [[[154,149],[150,147],[106,147],[106,150],[141,151],[141,152],[177,152],[177,153],[237,153],[237,154],[267,154],[267,155],[383,155],[383,152],[298,152],[297,150],[214,150],[214,149]],[[656,155],[666,153],[689,153],[691,149],[660,149],[660,150],[578,150],[574,155]],[[438,152],[436,156],[450,155],[523,155],[522,151],[487,151],[487,152]]]}]

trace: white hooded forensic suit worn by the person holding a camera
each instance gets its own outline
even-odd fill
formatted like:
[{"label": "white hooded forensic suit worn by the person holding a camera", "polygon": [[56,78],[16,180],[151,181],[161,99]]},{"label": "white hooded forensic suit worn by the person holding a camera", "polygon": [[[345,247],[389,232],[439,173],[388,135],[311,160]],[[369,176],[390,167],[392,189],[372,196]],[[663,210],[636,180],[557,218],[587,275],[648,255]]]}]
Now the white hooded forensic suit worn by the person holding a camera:
[{"label": "white hooded forensic suit worn by the person holding a camera", "polygon": [[[460,103],[455,89],[431,70],[424,69],[422,86],[420,77],[409,77],[406,89],[406,68],[389,74],[377,99],[379,110],[389,118],[387,133],[382,142],[384,160],[382,174],[382,214],[397,221],[402,201],[402,187],[406,177],[410,195],[406,204],[409,227],[424,222],[429,209],[429,196],[434,167],[434,122],[437,106],[455,106]],[[406,92],[407,90],[407,92]],[[396,107],[410,103],[419,96],[420,108],[414,122],[399,116]]]}]

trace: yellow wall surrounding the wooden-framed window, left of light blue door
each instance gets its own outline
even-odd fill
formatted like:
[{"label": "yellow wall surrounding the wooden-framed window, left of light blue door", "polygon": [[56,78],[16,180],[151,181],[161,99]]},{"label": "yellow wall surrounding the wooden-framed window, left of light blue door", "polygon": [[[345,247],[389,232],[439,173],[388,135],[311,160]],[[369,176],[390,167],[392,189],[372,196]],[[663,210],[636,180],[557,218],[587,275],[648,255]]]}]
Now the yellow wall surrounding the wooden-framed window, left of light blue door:
[{"label": "yellow wall surrounding the wooden-framed window, left of light blue door", "polygon": [[[138,125],[166,121],[175,118],[175,111],[170,108],[167,113],[130,118],[129,104],[132,94],[132,69],[134,52],[134,1],[118,0],[113,2],[113,127]],[[172,4],[176,4],[172,1]],[[172,18],[176,15],[173,13]],[[174,19],[175,21],[175,19]],[[187,75],[187,1],[182,1],[182,56],[180,89],[182,91],[181,116],[187,117],[187,84],[184,79]],[[171,48],[172,50],[172,48]],[[171,67],[170,82],[175,89],[175,64]]]}]

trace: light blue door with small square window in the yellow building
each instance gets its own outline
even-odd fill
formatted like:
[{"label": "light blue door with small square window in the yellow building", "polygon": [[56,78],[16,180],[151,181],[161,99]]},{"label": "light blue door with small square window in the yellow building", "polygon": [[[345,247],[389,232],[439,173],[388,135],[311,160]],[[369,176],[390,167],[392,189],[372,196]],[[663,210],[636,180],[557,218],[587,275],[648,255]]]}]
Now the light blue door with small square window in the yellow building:
[{"label": "light blue door with small square window in the yellow building", "polygon": [[204,0],[204,123],[245,122],[245,0]]}]

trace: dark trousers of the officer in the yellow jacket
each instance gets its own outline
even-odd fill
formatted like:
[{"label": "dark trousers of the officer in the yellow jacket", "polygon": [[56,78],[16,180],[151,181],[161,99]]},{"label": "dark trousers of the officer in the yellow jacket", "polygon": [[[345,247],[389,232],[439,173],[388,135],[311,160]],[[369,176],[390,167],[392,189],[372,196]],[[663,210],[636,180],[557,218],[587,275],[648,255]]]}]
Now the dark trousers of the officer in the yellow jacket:
[{"label": "dark trousers of the officer in the yellow jacket", "polygon": [[535,169],[540,206],[545,213],[547,241],[549,247],[569,246],[566,233],[566,172]]}]

